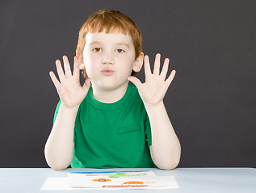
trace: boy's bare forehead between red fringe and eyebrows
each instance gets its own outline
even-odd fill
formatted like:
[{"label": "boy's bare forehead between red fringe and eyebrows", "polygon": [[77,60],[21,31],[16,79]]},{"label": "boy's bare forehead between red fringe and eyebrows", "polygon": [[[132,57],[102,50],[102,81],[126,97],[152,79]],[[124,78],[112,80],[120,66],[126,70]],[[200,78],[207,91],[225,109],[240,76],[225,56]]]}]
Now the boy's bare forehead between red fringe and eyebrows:
[{"label": "boy's bare forehead between red fringe and eyebrows", "polygon": [[132,37],[130,35],[124,35],[121,32],[114,33],[106,33],[103,32],[95,32],[95,33],[87,33],[86,35],[86,45],[89,45],[92,42],[99,43],[107,43],[108,45],[115,43],[127,43],[129,47],[133,47]]}]

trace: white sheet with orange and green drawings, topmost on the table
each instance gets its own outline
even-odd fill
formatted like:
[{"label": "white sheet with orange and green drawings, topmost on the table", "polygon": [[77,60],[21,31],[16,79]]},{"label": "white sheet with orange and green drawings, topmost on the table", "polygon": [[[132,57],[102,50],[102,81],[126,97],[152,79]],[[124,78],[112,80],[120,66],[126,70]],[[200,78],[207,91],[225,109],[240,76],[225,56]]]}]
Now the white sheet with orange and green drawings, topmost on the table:
[{"label": "white sheet with orange and green drawings, topmost on the table", "polygon": [[151,170],[69,172],[69,186],[122,189],[166,187]]}]

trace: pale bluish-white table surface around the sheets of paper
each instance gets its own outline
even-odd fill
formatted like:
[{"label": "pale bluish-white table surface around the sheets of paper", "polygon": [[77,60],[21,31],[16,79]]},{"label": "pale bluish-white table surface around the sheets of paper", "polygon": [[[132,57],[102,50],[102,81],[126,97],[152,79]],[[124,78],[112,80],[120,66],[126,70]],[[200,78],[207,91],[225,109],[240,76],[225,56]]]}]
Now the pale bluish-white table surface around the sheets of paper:
[{"label": "pale bluish-white table surface around the sheets of paper", "polygon": [[[256,192],[256,169],[254,168],[119,168],[108,170],[153,170],[157,176],[174,176],[179,189],[167,190],[120,190],[121,192]],[[0,192],[84,192],[84,191],[40,191],[48,177],[67,177],[70,171],[99,171],[99,169],[52,170],[50,168],[0,168]],[[100,170],[100,171],[103,171]],[[120,192],[118,191],[118,192]],[[99,191],[86,191],[99,192]],[[113,192],[106,190],[104,192]]]}]

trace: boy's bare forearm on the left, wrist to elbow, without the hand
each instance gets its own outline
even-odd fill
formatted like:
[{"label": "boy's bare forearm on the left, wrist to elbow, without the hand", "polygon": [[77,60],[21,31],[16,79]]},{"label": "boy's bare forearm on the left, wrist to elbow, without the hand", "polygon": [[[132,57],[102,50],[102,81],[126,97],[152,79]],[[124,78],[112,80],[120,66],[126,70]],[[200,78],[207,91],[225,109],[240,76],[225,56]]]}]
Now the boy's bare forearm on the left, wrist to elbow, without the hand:
[{"label": "boy's bare forearm on the left, wrist to elbow, without the hand", "polygon": [[44,154],[48,166],[64,170],[73,159],[73,129],[78,107],[65,109],[60,105],[52,132],[45,144]]}]

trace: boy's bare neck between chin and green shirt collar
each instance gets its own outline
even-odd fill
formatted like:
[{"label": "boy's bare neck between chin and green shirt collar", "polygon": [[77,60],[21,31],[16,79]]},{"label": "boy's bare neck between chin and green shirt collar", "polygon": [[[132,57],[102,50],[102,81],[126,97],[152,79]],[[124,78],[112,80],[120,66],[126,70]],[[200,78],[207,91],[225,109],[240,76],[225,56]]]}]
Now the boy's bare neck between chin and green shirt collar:
[{"label": "boy's bare neck between chin and green shirt collar", "polygon": [[124,96],[127,88],[128,88],[128,82],[127,84],[122,85],[119,88],[111,89],[111,90],[104,90],[100,88],[93,88],[93,96],[97,101],[103,102],[103,103],[114,103],[116,101],[120,101],[120,99]]}]

